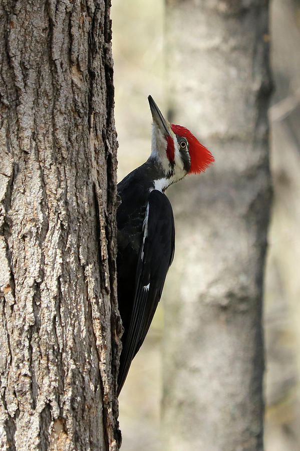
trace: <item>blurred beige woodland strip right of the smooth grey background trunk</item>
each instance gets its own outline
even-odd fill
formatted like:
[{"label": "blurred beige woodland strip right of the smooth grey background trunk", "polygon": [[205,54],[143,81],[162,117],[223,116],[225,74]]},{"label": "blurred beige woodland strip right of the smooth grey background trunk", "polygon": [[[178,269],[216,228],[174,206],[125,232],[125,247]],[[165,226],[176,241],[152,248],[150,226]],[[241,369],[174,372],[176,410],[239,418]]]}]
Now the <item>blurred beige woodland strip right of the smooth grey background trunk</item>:
[{"label": "blurred beige woodland strip right of the smooth grey background trunk", "polygon": [[271,3],[274,185],[265,283],[267,451],[300,443],[300,2]]}]

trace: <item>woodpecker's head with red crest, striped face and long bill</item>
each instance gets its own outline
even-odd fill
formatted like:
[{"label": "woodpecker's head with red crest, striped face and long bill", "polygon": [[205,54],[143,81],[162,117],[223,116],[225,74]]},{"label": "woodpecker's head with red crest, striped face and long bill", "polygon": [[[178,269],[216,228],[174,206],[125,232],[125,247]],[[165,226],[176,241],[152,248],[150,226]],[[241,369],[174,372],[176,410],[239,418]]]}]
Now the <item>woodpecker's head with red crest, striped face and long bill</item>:
[{"label": "woodpecker's head with red crest, striped face and long bill", "polygon": [[[148,97],[153,119],[151,158],[162,166],[170,185],[186,174],[203,172],[214,157],[194,135],[181,125],[169,124],[151,96]],[[165,186],[165,188],[167,187]]]}]

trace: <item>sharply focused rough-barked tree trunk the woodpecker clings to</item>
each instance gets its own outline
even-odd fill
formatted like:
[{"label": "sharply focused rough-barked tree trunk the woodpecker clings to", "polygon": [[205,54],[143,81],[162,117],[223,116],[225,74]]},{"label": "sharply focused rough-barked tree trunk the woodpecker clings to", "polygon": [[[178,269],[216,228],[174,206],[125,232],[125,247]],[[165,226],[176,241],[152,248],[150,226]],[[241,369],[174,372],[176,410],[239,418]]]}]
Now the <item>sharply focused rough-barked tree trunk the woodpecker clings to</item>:
[{"label": "sharply focused rough-barked tree trunk the woodpecker clings to", "polygon": [[109,1],[0,20],[0,447],[118,449]]}]

